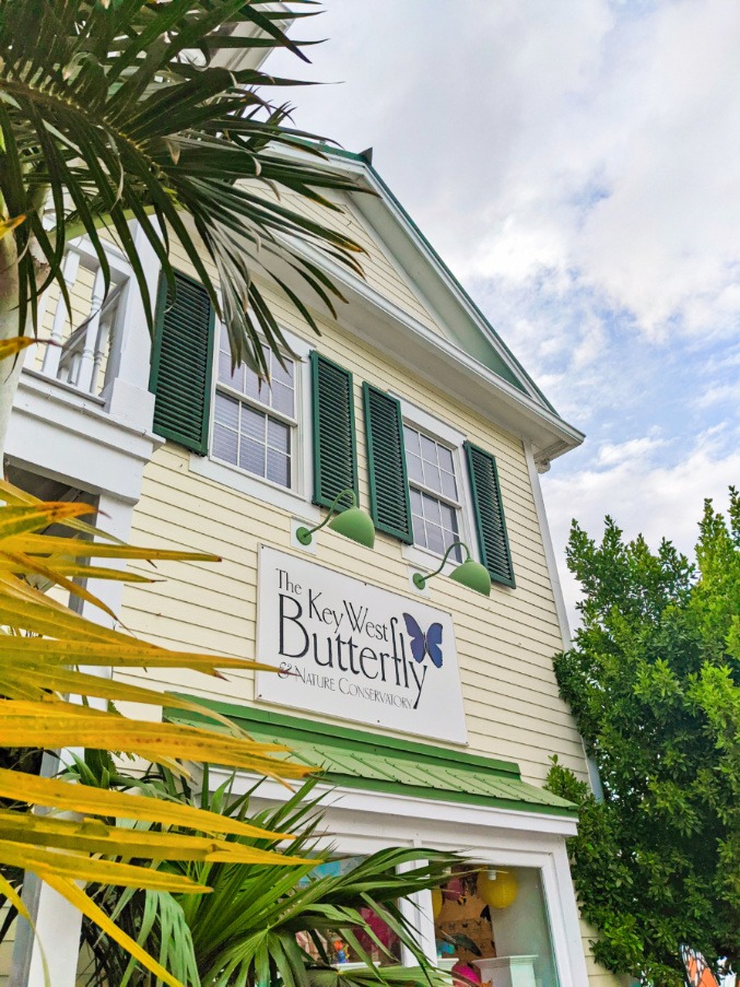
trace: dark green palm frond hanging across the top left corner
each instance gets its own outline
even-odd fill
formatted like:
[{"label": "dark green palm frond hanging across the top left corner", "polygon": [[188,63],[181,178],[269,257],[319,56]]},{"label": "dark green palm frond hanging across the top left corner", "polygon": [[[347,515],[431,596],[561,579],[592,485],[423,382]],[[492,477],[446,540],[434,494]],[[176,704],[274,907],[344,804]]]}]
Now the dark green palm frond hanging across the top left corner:
[{"label": "dark green palm frond hanging across the top left corner", "polygon": [[[295,16],[314,13],[301,9],[312,5],[292,4]],[[69,305],[62,258],[81,234],[97,255],[106,292],[105,238],[117,242],[152,328],[131,220],[141,224],[173,294],[169,237],[177,237],[226,321],[235,362],[267,374],[258,330],[268,343],[284,345],[256,274],[281,286],[318,331],[273,267],[287,259],[333,310],[340,292],[290,243],[308,242],[359,273],[362,248],[285,204],[281,193],[336,209],[326,190],[354,186],[321,168],[322,155],[304,142],[309,136],[286,126],[290,107],[263,95],[291,80],[218,63],[224,50],[287,47],[302,55],[281,16],[266,0],[2,3],[0,219],[26,218],[12,231],[21,334],[28,321],[37,328],[38,298],[49,283]],[[303,153],[285,155],[285,148]]]}]

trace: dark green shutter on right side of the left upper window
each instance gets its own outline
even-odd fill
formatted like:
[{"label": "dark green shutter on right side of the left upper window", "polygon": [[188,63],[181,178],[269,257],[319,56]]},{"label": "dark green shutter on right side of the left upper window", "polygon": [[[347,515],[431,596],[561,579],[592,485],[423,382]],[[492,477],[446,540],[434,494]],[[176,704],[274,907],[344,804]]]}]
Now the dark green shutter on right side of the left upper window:
[{"label": "dark green shutter on right side of the left upper window", "polygon": [[[314,503],[329,507],[337,494],[357,493],[352,374],[314,350]],[[349,507],[341,503],[340,509]]]}]

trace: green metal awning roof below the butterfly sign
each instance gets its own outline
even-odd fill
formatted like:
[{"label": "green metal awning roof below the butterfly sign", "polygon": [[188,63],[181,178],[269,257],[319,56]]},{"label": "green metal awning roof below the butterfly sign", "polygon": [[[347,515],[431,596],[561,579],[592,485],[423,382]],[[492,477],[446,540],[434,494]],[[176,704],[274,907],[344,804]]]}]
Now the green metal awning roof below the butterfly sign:
[{"label": "green metal awning roof below the butterfly sign", "polygon": [[[573,816],[575,806],[521,780],[510,761],[383,737],[281,713],[181,696],[227,716],[255,740],[284,744],[294,761],[318,766],[336,786],[438,799],[468,806],[490,806],[519,812]],[[207,716],[168,709],[178,722],[213,724]]]}]

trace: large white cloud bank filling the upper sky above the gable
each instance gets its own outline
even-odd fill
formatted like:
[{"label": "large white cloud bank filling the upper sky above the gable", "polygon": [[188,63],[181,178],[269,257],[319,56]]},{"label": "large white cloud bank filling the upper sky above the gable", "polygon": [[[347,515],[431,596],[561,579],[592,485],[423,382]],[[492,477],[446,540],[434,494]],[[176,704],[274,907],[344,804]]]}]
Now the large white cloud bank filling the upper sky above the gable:
[{"label": "large white cloud bank filling the upper sky above the gable", "polygon": [[457,273],[545,273],[658,341],[737,331],[732,0],[334,0],[307,31],[346,83],[298,91],[298,122],[374,144]]}]

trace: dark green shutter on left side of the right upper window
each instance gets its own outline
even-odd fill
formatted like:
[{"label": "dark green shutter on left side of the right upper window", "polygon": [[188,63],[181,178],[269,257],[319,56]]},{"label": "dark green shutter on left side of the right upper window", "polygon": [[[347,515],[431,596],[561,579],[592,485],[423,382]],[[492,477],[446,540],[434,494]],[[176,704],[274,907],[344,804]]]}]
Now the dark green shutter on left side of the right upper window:
[{"label": "dark green shutter on left side of the right upper window", "polygon": [[362,386],[367,437],[371,517],[378,531],[413,542],[401,403],[371,384]]}]

